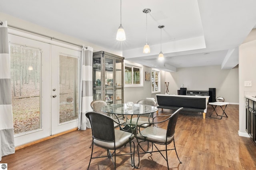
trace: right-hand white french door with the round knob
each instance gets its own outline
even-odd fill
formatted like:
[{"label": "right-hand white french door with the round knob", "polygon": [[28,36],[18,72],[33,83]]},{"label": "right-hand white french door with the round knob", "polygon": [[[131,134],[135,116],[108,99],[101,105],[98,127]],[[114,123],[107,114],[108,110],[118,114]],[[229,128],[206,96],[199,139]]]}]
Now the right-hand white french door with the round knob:
[{"label": "right-hand white french door with the round knob", "polygon": [[78,126],[81,52],[52,45],[52,135]]}]

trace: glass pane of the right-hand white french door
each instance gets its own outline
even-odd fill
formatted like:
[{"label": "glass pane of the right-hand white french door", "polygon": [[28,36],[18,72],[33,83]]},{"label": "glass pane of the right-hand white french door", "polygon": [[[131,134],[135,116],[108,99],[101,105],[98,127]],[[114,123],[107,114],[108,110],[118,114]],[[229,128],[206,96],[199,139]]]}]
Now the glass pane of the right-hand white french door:
[{"label": "glass pane of the right-hand white french door", "polygon": [[59,122],[78,119],[78,58],[60,55]]}]

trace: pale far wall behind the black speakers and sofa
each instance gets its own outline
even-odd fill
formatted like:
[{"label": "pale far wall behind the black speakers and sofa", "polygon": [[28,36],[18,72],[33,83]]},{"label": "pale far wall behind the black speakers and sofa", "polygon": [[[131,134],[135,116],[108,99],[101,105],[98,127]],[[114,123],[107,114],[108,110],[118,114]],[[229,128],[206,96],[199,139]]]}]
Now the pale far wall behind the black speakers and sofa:
[{"label": "pale far wall behind the black speakers and sofa", "polygon": [[177,68],[177,72],[166,72],[170,94],[177,94],[181,85],[187,90],[209,90],[216,88],[216,97],[225,102],[238,104],[238,67],[222,70],[221,66]]}]

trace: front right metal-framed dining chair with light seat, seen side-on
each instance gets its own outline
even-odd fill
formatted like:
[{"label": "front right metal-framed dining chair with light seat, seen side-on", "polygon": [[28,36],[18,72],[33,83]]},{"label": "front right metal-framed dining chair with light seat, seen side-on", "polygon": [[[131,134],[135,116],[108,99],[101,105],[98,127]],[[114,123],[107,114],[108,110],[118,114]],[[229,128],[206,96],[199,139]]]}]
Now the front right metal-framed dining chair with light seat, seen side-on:
[{"label": "front right metal-framed dining chair with light seat, seen side-on", "polygon": [[[166,117],[168,116],[168,118],[164,119],[163,121],[158,121],[158,122],[152,122],[153,126],[147,127],[146,129],[143,128],[143,130],[141,131],[141,127],[143,127],[143,124],[140,125],[138,127],[138,133],[136,134],[136,139],[138,141],[138,146],[137,146],[137,150],[138,150],[138,166],[140,164],[140,154],[146,154],[146,153],[150,153],[152,154],[153,152],[160,152],[160,154],[164,157],[164,159],[167,162],[167,167],[169,170],[169,164],[168,164],[168,154],[167,151],[168,150],[175,150],[176,155],[178,160],[180,161],[179,157],[178,157],[178,153],[176,151],[176,147],[175,147],[175,142],[174,142],[174,133],[175,133],[175,127],[176,127],[176,122],[178,119],[178,114],[180,112],[180,110],[183,109],[183,107],[180,107],[178,110],[176,110],[173,114],[170,115],[159,115],[156,117]],[[154,117],[154,119],[156,118]],[[165,129],[160,128],[160,127],[156,127],[154,126],[155,124],[161,124],[168,121],[167,127]],[[146,123],[145,123],[146,124]],[[140,142],[139,142],[140,140]],[[174,148],[173,149],[167,149],[167,146],[172,143],[174,144]],[[143,149],[143,147],[140,145],[142,142],[148,142],[148,143],[152,143],[152,150],[149,151],[145,151],[145,149]],[[165,149],[160,149],[156,146],[156,144],[159,145],[165,145]],[[153,150],[153,147],[156,148],[156,150]],[[143,150],[143,152],[139,152],[139,148]],[[166,153],[166,156],[164,156],[164,154],[162,152]],[[182,164],[182,162],[180,161],[180,164]]]}]

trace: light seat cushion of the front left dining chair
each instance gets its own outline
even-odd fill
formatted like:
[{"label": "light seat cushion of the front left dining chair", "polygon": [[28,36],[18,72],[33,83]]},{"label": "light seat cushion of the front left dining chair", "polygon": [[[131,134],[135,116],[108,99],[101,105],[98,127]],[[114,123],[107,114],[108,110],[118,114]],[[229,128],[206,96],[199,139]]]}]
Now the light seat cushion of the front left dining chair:
[{"label": "light seat cushion of the front left dining chair", "polygon": [[[120,131],[120,130],[114,130],[115,131],[115,139],[116,139],[116,149],[124,146],[126,143],[129,143],[129,140],[132,141],[134,139],[134,134],[126,132],[126,131]],[[129,137],[131,137],[129,139]],[[97,139],[93,140],[94,144],[106,148],[106,149],[114,149],[114,142],[104,142],[99,141]]]}]

